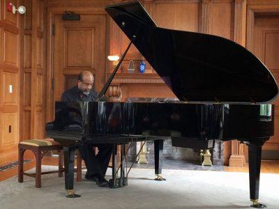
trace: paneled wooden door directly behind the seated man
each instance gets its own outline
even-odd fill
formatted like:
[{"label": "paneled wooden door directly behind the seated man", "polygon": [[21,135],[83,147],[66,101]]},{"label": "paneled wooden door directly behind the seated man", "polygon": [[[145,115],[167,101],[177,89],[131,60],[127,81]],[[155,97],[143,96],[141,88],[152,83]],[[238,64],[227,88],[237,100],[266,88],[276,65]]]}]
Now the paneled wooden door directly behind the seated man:
[{"label": "paneled wooden door directly behind the seated man", "polygon": [[77,84],[83,70],[92,72],[94,87],[100,91],[105,84],[105,15],[80,15],[80,21],[54,15],[53,48],[53,102]]}]

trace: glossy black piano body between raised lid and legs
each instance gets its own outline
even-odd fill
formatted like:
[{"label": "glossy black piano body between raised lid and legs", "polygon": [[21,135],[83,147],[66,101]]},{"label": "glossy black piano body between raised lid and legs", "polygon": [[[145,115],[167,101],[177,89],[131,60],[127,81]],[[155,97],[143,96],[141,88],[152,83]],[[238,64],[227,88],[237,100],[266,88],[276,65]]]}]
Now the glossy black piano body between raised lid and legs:
[{"label": "glossy black piano body between raised lid and legs", "polygon": [[243,141],[273,135],[273,108],[271,104],[56,102],[56,119],[47,125],[47,132]]}]

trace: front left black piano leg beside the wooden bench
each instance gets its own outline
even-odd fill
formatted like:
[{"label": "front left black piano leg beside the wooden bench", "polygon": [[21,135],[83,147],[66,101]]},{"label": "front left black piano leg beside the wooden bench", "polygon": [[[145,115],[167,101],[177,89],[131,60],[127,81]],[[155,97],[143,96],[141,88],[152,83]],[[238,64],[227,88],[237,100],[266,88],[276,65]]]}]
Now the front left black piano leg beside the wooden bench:
[{"label": "front left black piano leg beside the wooden bench", "polygon": [[80,194],[74,193],[75,148],[63,147],[63,151],[65,166],[65,188],[68,192],[67,197],[80,197]]}]

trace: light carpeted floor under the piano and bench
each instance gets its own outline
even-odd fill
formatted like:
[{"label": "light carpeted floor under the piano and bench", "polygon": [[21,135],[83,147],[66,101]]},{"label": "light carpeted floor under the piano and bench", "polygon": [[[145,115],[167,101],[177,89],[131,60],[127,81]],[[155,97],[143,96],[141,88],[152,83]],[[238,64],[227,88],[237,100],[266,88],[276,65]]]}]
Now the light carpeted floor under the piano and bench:
[{"label": "light carpeted floor under the piano and bench", "polygon": [[[45,170],[53,167],[43,167]],[[83,173],[84,174],[84,173]],[[0,183],[0,208],[249,208],[248,173],[224,171],[163,170],[165,182],[154,181],[153,169],[133,169],[128,186],[100,188],[88,180],[75,182],[82,196],[67,199],[63,178],[45,175],[42,187],[35,188],[34,178],[17,177]],[[110,171],[108,171],[110,175]],[[106,177],[107,179],[110,176]],[[279,208],[279,174],[262,173],[261,203]]]}]

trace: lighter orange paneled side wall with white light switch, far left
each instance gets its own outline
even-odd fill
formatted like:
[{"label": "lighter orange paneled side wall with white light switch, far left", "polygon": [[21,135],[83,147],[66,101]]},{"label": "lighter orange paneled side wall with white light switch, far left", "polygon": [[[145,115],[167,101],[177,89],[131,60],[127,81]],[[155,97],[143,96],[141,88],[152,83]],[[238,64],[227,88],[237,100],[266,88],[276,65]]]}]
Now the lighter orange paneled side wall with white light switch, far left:
[{"label": "lighter orange paneled side wall with white light switch, far left", "polygon": [[20,16],[6,10],[1,1],[0,13],[0,164],[15,158],[20,126]]}]

